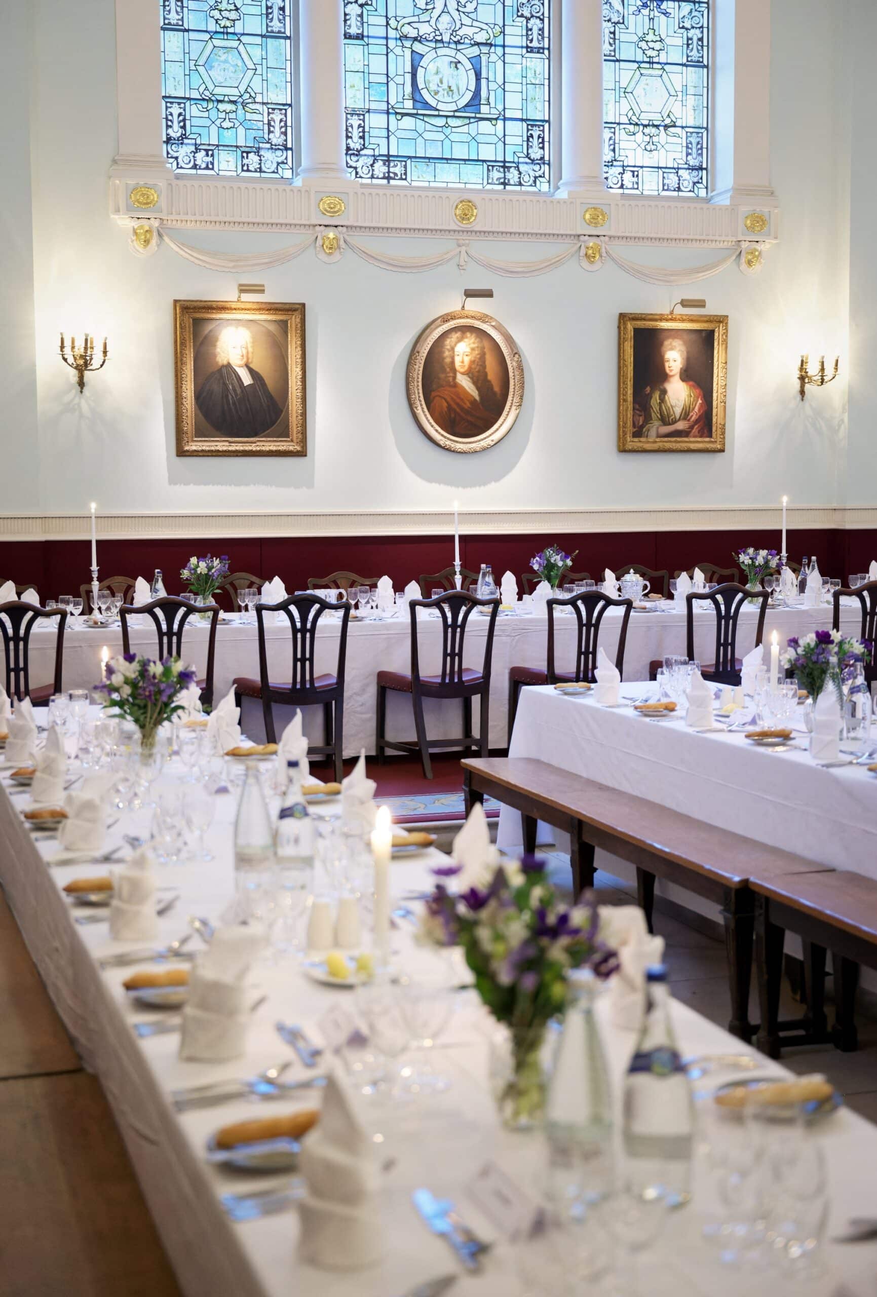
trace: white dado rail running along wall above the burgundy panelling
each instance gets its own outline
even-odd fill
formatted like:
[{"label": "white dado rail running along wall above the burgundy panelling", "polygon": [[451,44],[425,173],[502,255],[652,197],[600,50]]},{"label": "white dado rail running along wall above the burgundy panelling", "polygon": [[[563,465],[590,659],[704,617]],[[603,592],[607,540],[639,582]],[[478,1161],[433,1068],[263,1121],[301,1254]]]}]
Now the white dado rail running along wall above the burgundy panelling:
[{"label": "white dado rail running along wall above the burgundy panelling", "polygon": [[[789,529],[877,529],[877,507],[789,508]],[[0,515],[0,542],[82,541],[91,534],[90,514]],[[601,532],[780,530],[780,505],[724,505],[715,508],[505,508],[461,510],[464,536]],[[453,536],[450,510],[266,511],[213,514],[99,514],[97,538],[232,540],[319,536]]]}]

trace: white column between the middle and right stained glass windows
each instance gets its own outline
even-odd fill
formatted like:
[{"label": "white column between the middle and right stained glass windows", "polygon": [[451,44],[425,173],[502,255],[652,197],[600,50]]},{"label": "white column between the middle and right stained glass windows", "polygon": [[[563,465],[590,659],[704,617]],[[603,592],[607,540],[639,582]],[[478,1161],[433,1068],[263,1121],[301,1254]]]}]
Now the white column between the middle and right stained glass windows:
[{"label": "white column between the middle and right stained glass windows", "polygon": [[558,193],[599,197],[603,183],[603,5],[560,0]]}]

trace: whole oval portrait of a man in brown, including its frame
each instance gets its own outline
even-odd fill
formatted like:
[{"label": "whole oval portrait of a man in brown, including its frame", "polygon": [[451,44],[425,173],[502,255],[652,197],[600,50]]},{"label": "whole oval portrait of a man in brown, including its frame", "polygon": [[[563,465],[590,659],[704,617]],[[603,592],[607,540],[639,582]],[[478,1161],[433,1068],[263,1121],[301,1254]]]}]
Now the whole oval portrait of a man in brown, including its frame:
[{"label": "whole oval portrait of a man in brown, including its frame", "polygon": [[483,311],[449,311],[423,329],[406,375],[411,414],[444,450],[488,450],[510,432],[524,399],[511,333]]}]

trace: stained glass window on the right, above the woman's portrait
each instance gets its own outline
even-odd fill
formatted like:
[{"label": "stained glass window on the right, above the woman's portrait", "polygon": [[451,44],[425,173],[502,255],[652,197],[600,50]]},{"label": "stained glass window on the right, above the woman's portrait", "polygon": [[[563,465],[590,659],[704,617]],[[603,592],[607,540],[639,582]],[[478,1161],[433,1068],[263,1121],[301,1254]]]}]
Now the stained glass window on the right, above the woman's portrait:
[{"label": "stained glass window on the right, above the woman's portrait", "polygon": [[610,189],[708,192],[710,0],[603,0]]}]

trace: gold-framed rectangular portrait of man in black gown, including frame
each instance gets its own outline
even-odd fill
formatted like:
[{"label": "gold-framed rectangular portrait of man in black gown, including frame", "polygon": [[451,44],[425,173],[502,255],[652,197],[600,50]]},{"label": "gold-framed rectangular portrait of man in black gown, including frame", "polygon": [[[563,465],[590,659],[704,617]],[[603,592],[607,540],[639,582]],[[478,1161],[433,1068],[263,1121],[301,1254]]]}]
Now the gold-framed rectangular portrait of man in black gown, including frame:
[{"label": "gold-framed rectangular portrait of man in black gown, including frame", "polygon": [[178,455],[306,455],[304,302],[174,302]]}]

